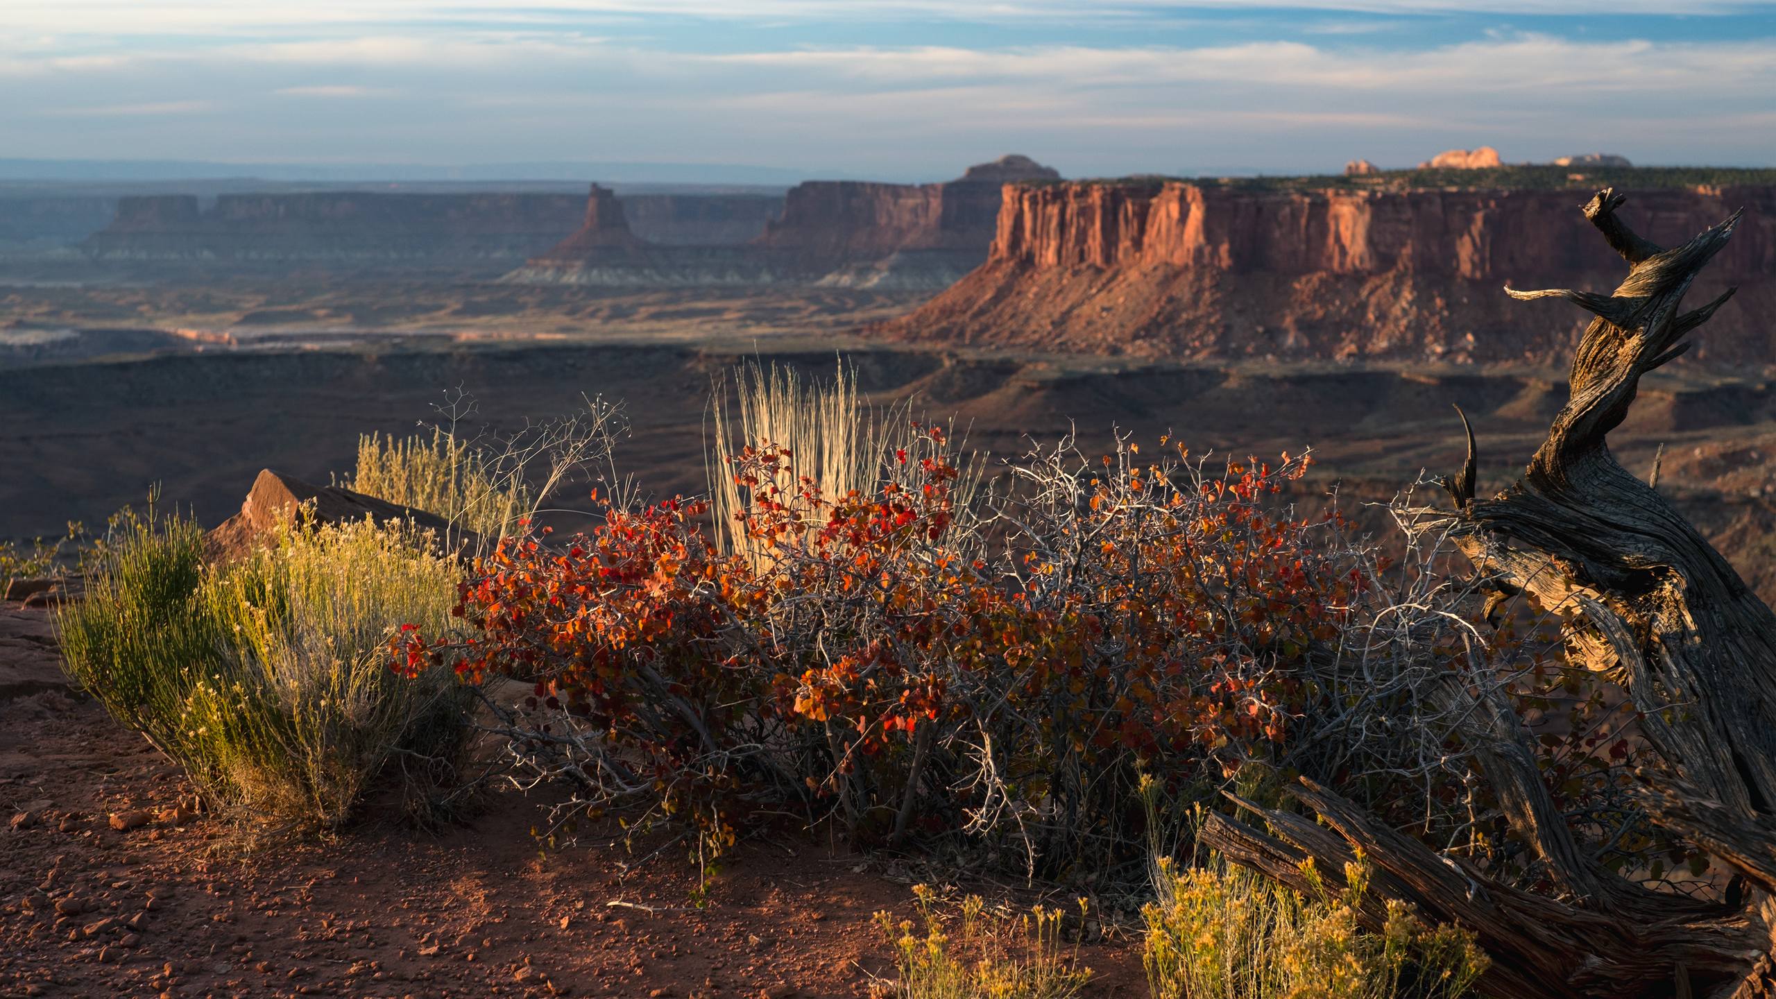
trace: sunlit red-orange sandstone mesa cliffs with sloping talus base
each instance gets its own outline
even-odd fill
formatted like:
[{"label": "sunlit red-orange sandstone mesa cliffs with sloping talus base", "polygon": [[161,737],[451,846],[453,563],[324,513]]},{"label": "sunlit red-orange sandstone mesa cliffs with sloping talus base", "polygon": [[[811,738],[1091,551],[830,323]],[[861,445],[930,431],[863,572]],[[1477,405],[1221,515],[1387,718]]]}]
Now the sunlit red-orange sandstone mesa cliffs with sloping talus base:
[{"label": "sunlit red-orange sandstone mesa cliffs with sloping talus base", "polygon": [[[1607,292],[1621,261],[1577,190],[1265,190],[1186,181],[1007,187],[987,261],[883,338],[1177,359],[1550,364],[1584,313],[1502,286]],[[1744,206],[1691,302],[1739,286],[1687,364],[1771,361],[1776,187],[1629,190],[1675,245]]]}]

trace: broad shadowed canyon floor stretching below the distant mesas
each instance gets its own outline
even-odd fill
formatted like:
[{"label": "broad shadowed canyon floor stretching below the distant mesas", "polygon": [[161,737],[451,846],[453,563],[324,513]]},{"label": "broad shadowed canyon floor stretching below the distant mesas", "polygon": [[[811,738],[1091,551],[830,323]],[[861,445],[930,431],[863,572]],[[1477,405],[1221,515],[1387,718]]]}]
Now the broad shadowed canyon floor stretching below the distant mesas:
[{"label": "broad shadowed canyon floor stretching below the distant mesas", "polygon": [[[1311,494],[1346,507],[1460,466],[1474,421],[1481,489],[1502,487],[1565,402],[1565,372],[1460,364],[1241,359],[1165,363],[941,350],[860,332],[918,293],[860,290],[527,288],[437,279],[233,279],[0,286],[0,539],[59,535],[162,501],[220,523],[261,468],[327,482],[357,436],[435,421],[446,391],[478,400],[464,425],[513,428],[623,400],[616,462],[654,496],[698,492],[710,396],[742,361],[829,373],[856,366],[872,402],[911,398],[968,443],[1011,457],[1076,434],[1162,434],[1195,453],[1314,448]],[[183,331],[183,332],[181,332]],[[1771,595],[1776,391],[1760,372],[1678,361],[1650,375],[1611,437]],[[572,507],[574,496],[563,496]],[[568,519],[568,524],[572,519]]]}]

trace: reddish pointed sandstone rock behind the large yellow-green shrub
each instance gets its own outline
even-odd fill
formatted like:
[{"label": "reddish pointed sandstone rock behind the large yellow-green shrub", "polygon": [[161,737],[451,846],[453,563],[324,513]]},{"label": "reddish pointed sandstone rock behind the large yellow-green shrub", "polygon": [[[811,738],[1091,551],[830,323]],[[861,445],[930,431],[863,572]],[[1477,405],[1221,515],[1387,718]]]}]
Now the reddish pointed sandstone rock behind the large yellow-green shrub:
[{"label": "reddish pointed sandstone rock behind the large yellow-green shrub", "polygon": [[449,521],[412,507],[400,507],[375,496],[364,496],[337,485],[309,485],[298,478],[263,469],[252,482],[252,491],[234,514],[204,537],[204,555],[211,562],[234,562],[263,544],[279,526],[288,524],[295,512],[313,503],[311,515],[316,524],[343,524],[373,517],[377,523],[403,521],[419,530],[433,531],[440,547],[455,549],[458,544],[474,547],[476,537],[465,530],[451,528]]}]

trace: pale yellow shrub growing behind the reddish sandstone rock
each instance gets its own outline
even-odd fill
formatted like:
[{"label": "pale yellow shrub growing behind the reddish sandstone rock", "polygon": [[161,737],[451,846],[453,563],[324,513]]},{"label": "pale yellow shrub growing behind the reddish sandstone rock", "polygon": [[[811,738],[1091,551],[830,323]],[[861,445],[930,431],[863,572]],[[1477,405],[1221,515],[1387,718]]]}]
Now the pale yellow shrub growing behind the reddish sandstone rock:
[{"label": "pale yellow shrub growing behind the reddish sandstone rock", "polygon": [[430,437],[361,436],[355,471],[339,485],[487,537],[517,530],[535,501],[524,478],[496,455],[440,427]]}]

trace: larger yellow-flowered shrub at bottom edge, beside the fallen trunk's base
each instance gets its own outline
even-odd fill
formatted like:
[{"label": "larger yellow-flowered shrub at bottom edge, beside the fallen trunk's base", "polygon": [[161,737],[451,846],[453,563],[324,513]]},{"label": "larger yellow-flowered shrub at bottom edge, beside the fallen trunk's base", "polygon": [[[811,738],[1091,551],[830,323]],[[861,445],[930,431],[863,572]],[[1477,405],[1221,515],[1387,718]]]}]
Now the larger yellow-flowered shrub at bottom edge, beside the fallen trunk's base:
[{"label": "larger yellow-flowered shrub at bottom edge, beside the fallen trunk's base", "polygon": [[[1362,919],[1369,866],[1346,864],[1334,889],[1302,867],[1307,896],[1218,857],[1158,864],[1142,910],[1142,960],[1154,999],[1456,999],[1487,971],[1472,933],[1428,926],[1403,903]],[[1373,901],[1368,901],[1373,907]]]}]

